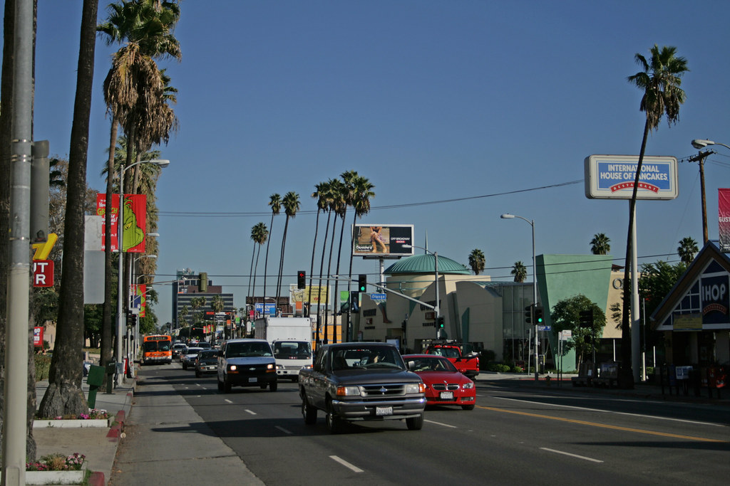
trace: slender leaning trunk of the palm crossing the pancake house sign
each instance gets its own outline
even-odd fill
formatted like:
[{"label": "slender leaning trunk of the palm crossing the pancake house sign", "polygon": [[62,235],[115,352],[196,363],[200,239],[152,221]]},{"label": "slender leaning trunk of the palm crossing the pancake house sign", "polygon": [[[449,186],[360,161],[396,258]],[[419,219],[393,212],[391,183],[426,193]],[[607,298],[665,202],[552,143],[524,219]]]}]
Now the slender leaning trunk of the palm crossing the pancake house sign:
[{"label": "slender leaning trunk of the palm crossing the pancake house sign", "polygon": [[[631,370],[631,326],[629,324],[629,309],[631,307],[631,282],[630,265],[631,265],[631,243],[632,230],[634,227],[634,212],[637,205],[637,192],[639,190],[639,176],[641,175],[641,166],[644,162],[644,153],[646,150],[646,139],[649,135],[649,121],[644,125],[644,136],[641,142],[641,151],[639,152],[639,163],[637,164],[637,173],[634,176],[634,192],[629,200],[629,231],[626,235],[626,260],[623,266],[623,312],[621,314],[621,386],[623,388],[634,388],[634,373]],[[635,282],[634,284],[638,284]]]}]

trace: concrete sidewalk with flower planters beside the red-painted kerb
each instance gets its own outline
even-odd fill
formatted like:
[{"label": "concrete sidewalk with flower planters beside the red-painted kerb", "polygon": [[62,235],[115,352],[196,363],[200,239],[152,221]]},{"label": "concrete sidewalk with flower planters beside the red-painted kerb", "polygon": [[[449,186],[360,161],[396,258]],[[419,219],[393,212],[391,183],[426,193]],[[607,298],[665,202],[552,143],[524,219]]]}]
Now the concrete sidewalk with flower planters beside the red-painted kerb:
[{"label": "concrete sidewalk with flower planters beside the red-painted kerb", "polygon": [[[79,452],[86,456],[88,469],[97,474],[91,478],[90,484],[106,485],[112,476],[112,466],[117,453],[117,447],[123,435],[123,423],[129,415],[136,379],[126,378],[126,383],[115,388],[112,393],[106,393],[106,388],[99,389],[96,394],[96,409],[104,409],[117,422],[112,428],[34,428],[33,436],[37,446],[37,457],[60,452],[71,455]],[[48,382],[36,383],[37,403],[40,404],[48,388]],[[82,380],[84,396],[88,398],[89,386],[86,377]]]}]

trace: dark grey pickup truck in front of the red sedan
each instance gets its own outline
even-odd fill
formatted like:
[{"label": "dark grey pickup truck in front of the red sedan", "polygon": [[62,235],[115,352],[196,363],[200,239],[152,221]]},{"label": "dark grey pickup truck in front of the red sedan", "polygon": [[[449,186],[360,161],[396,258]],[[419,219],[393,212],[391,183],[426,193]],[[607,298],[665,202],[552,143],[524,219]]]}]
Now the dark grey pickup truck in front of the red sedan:
[{"label": "dark grey pickup truck in front of the red sedan", "polygon": [[420,430],[425,392],[398,349],[384,342],[320,346],[312,368],[299,372],[304,422],[316,423],[323,410],[332,434],[353,420],[405,420],[410,430]]}]

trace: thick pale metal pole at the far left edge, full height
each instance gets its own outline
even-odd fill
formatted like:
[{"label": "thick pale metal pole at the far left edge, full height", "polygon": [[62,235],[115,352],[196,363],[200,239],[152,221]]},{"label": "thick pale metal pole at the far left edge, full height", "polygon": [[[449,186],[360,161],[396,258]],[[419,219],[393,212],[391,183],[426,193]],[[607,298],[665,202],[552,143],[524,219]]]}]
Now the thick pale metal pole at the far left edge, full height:
[{"label": "thick pale metal pole at the far left edge, full height", "polygon": [[[12,0],[7,0],[12,1]],[[33,116],[33,1],[15,1],[12,148],[10,165],[9,272],[5,329],[2,481],[26,484],[28,307],[31,275],[31,122]],[[7,175],[6,175],[7,176]],[[4,177],[6,177],[4,176]]]}]

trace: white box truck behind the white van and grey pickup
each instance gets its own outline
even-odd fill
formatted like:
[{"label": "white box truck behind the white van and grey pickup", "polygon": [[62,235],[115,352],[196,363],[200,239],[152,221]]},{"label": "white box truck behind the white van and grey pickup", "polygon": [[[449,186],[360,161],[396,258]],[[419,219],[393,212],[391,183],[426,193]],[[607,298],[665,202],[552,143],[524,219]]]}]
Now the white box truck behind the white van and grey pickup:
[{"label": "white box truck behind the white van and grey pickup", "polygon": [[266,317],[255,321],[254,337],[271,343],[278,378],[299,379],[312,366],[312,321],[303,317]]}]

